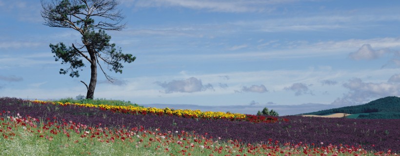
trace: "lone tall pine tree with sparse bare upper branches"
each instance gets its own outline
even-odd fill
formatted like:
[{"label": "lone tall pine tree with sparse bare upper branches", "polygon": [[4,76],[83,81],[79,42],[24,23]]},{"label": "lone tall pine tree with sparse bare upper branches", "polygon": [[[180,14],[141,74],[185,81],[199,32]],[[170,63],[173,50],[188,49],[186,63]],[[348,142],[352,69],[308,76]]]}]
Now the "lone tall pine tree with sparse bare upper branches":
[{"label": "lone tall pine tree with sparse bare upper branches", "polygon": [[90,63],[89,86],[81,81],[87,89],[86,98],[93,99],[98,66],[107,80],[114,80],[107,75],[100,62],[104,62],[108,70],[122,73],[121,62],[131,63],[136,59],[132,54],[123,54],[115,43],[111,44],[111,36],[105,33],[105,30],[120,31],[125,27],[125,24],[120,24],[123,16],[120,10],[116,10],[118,4],[116,0],[41,0],[44,25],[70,28],[80,33],[81,43],[77,46],[72,44],[67,48],[60,42],[50,44],[50,48],[56,61],[70,65],[67,69],[61,68],[60,74],[69,73],[70,77],[78,78],[79,71],[85,67],[84,62]]}]

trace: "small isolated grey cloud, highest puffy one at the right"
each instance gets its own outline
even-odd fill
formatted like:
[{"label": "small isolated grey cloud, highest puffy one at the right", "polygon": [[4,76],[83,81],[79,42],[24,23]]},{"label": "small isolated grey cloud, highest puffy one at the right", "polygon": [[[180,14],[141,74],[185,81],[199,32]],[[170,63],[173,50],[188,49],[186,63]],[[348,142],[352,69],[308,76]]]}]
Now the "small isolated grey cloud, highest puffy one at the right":
[{"label": "small isolated grey cloud, highest puffy one at the right", "polygon": [[349,54],[351,59],[360,60],[360,59],[378,59],[385,53],[389,53],[388,49],[380,49],[374,50],[372,49],[370,44],[363,44],[361,48],[357,52],[353,52]]}]

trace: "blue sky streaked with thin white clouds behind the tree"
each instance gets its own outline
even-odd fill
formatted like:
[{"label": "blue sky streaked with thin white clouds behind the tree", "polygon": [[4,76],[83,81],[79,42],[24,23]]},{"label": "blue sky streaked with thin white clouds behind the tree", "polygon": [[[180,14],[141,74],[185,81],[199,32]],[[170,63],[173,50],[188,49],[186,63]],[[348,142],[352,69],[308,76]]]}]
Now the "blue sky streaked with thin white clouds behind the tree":
[{"label": "blue sky streaked with thin white clouds behind the tree", "polygon": [[[255,114],[299,114],[400,94],[400,1],[120,0],[107,31],[137,57],[95,98]],[[40,0],[0,0],[0,96],[86,95],[90,68],[60,75],[49,44],[80,41],[43,25]],[[186,107],[185,107],[186,108]]]}]

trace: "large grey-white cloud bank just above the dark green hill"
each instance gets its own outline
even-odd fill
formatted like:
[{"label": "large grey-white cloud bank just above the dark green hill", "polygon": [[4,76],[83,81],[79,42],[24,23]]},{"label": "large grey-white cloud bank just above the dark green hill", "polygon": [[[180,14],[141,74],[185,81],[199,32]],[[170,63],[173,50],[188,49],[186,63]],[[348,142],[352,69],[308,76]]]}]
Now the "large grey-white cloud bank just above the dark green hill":
[{"label": "large grey-white cloud bank just above the dark green hill", "polygon": [[332,104],[363,104],[373,98],[398,96],[400,94],[400,84],[389,82],[363,82],[360,78],[353,78],[348,80],[346,83],[343,84],[343,87],[349,89],[350,91],[347,94],[344,94],[342,98],[337,98],[334,102],[332,102]]}]

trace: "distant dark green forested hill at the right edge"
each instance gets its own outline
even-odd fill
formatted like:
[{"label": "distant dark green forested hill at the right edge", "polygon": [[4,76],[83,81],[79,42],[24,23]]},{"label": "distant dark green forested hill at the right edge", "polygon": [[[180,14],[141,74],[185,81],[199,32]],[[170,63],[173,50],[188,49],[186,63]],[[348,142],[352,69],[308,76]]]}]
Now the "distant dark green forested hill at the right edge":
[{"label": "distant dark green forested hill at the right edge", "polygon": [[305,113],[302,115],[324,116],[333,113],[352,114],[348,118],[399,118],[400,119],[400,98],[386,97],[379,98],[357,106],[347,106],[322,110],[318,112]]}]

